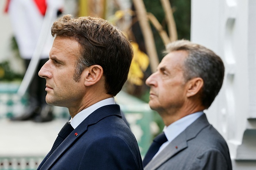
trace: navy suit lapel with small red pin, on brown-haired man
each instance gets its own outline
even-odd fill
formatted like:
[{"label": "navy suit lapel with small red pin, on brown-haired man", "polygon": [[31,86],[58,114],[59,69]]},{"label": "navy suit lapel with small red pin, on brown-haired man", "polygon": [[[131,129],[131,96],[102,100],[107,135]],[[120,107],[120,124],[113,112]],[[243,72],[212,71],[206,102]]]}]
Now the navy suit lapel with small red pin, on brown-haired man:
[{"label": "navy suit lapel with small red pin, on brown-haired man", "polygon": [[[79,140],[80,136],[82,136],[86,131],[87,127],[96,124],[98,121],[100,121],[103,118],[106,118],[110,115],[118,115],[122,117],[120,112],[120,107],[117,104],[112,105],[106,105],[103,107],[100,107],[99,109],[92,112],[84,121],[81,122],[81,124],[78,125],[77,128],[74,129],[74,131],[69,134],[68,137],[57,147],[57,149],[50,155],[50,157],[45,161],[45,163],[42,165],[42,170],[48,170],[50,167],[56,162],[56,160],[62,156],[63,153],[66,152],[66,150],[75,143],[76,140]],[[77,135],[76,135],[76,134]]]}]

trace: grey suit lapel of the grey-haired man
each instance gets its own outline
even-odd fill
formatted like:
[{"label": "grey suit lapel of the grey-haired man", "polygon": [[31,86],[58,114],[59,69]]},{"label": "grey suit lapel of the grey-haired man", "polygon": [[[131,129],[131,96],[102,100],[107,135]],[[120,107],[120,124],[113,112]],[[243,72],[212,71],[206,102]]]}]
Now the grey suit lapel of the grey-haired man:
[{"label": "grey suit lapel of the grey-haired man", "polygon": [[163,149],[156,157],[150,161],[144,170],[155,170],[165,161],[172,158],[182,150],[187,148],[187,141],[195,138],[200,131],[209,125],[206,115],[201,115],[196,121],[190,124],[181,134],[179,134],[165,149]]}]

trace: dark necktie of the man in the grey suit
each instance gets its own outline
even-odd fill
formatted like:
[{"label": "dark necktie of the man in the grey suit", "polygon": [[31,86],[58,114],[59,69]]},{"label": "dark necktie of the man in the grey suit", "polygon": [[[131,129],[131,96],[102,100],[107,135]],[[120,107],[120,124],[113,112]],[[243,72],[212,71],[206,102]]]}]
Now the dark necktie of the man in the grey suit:
[{"label": "dark necktie of the man in the grey suit", "polygon": [[158,152],[160,146],[162,146],[163,143],[167,141],[167,138],[165,134],[162,132],[159,134],[151,144],[150,148],[148,149],[145,158],[143,159],[143,167],[146,167],[146,165],[151,161],[151,159],[156,155]]}]

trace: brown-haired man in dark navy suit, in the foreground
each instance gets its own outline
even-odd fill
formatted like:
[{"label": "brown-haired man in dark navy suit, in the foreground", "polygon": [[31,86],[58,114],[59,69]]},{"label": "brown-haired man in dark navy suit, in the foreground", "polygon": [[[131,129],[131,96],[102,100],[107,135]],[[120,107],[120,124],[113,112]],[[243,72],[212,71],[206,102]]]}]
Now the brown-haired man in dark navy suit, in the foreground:
[{"label": "brown-haired man in dark navy suit, in the foreground", "polygon": [[69,109],[38,170],[142,170],[137,141],[122,120],[114,96],[127,80],[133,58],[125,35],[101,18],[64,15],[51,28],[46,101]]}]

